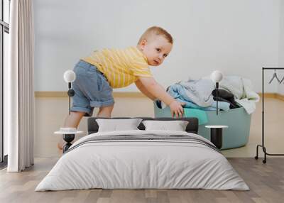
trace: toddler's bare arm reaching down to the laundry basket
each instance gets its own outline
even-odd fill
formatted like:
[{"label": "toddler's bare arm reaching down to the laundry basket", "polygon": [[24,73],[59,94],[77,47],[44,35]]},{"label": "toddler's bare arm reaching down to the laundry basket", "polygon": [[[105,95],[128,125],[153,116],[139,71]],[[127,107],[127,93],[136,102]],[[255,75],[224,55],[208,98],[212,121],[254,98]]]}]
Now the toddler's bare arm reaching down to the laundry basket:
[{"label": "toddler's bare arm reaching down to the laundry basket", "polygon": [[170,111],[172,116],[181,116],[183,114],[182,103],[175,100],[170,94],[168,94],[165,89],[155,81],[153,77],[139,77],[139,81],[147,91],[153,95],[153,97],[160,99],[165,104],[170,106]]}]

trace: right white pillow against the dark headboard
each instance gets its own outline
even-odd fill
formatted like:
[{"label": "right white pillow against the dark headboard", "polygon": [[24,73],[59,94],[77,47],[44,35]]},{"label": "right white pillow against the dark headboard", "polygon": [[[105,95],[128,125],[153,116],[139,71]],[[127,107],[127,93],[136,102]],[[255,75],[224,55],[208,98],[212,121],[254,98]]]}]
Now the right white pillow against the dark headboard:
[{"label": "right white pillow against the dark headboard", "polygon": [[142,121],[145,130],[185,131],[188,121]]}]

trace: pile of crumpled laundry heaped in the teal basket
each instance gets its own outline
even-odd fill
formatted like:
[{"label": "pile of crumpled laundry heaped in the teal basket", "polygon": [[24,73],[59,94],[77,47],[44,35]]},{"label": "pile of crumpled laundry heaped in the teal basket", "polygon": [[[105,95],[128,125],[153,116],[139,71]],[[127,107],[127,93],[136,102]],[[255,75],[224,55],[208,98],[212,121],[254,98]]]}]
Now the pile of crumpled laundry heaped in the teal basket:
[{"label": "pile of crumpled laundry heaped in the teal basket", "polygon": [[[167,92],[178,101],[185,102],[185,108],[202,109],[204,111],[216,111],[217,91],[215,84],[208,77],[202,79],[188,79],[186,82],[178,82],[170,85]],[[229,109],[243,106],[248,114],[256,109],[259,96],[252,90],[251,80],[239,76],[225,76],[219,82],[218,109]],[[165,104],[160,104],[164,107]]]}]

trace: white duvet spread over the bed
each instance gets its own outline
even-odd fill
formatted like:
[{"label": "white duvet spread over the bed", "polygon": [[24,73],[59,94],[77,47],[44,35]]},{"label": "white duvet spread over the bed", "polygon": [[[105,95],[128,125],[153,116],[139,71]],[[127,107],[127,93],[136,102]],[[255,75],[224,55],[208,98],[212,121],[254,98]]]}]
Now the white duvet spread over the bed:
[{"label": "white duvet spread over the bed", "polygon": [[186,135],[212,145],[201,136],[180,131],[93,133],[76,141],[35,191],[90,188],[249,190],[222,153],[195,141],[86,142],[97,136],[147,134]]}]

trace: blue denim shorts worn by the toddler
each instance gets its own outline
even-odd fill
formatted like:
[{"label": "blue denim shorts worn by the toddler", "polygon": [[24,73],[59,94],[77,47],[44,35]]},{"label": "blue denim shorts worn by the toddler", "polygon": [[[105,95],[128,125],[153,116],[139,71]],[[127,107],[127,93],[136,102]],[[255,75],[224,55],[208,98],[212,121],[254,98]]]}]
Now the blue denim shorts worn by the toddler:
[{"label": "blue denim shorts worn by the toddler", "polygon": [[88,62],[80,60],[74,67],[76,79],[72,83],[75,95],[72,97],[71,111],[86,112],[92,116],[94,107],[112,106],[112,88],[102,72]]}]

